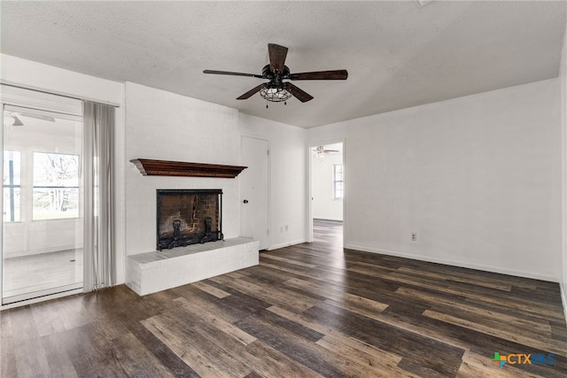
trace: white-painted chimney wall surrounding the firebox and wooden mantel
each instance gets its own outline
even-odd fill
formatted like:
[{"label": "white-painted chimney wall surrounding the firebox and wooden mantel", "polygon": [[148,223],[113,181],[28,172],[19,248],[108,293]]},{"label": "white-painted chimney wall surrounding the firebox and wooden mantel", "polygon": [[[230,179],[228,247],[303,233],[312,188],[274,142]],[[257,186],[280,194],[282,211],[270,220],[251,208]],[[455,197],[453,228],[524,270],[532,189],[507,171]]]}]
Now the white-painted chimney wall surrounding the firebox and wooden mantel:
[{"label": "white-painted chimney wall surrounding the firebox and wooden mantel", "polygon": [[238,177],[143,176],[134,158],[236,166],[236,109],[126,83],[126,252],[156,250],[156,189],[222,189],[222,232],[239,235]]}]

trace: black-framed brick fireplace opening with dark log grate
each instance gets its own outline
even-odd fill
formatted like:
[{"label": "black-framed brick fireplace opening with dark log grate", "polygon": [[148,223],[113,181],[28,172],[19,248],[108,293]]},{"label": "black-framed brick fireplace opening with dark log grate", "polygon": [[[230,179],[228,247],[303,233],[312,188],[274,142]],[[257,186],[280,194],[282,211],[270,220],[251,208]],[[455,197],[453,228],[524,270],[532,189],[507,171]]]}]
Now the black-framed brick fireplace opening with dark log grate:
[{"label": "black-framed brick fireplace opening with dark log grate", "polygon": [[158,189],[158,251],[223,240],[221,189]]}]

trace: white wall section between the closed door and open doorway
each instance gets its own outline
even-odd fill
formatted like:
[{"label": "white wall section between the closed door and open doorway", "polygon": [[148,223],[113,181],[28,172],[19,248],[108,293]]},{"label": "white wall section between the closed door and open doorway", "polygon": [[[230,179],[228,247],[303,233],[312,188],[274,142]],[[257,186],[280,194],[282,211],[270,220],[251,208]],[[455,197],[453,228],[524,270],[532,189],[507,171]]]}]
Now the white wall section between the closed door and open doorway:
[{"label": "white wall section between the closed door and open doorway", "polygon": [[[306,241],[306,130],[244,113],[241,135],[269,144],[269,247],[274,250]],[[288,225],[288,231],[282,227]]]}]

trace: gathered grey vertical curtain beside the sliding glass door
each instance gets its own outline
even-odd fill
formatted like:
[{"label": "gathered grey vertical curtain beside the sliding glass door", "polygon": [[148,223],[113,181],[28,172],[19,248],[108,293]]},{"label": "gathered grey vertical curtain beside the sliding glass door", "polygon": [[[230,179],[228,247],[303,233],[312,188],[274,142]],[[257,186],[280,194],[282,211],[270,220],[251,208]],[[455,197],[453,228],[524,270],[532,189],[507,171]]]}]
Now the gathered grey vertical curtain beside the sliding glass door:
[{"label": "gathered grey vertical curtain beside the sliding glass door", "polygon": [[84,291],[113,286],[114,107],[82,102],[84,168]]}]

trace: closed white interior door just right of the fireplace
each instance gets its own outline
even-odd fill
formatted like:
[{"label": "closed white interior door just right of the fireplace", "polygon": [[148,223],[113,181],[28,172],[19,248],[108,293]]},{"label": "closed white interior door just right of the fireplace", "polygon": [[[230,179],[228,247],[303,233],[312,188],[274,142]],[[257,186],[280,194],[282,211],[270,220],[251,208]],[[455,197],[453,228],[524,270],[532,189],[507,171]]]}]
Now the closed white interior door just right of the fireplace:
[{"label": "closed white interior door just right of the fireplace", "polygon": [[242,137],[240,179],[240,234],[260,241],[260,250],[269,245],[268,235],[268,141]]}]

